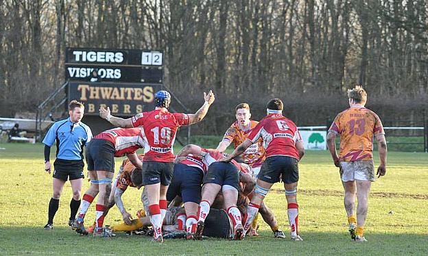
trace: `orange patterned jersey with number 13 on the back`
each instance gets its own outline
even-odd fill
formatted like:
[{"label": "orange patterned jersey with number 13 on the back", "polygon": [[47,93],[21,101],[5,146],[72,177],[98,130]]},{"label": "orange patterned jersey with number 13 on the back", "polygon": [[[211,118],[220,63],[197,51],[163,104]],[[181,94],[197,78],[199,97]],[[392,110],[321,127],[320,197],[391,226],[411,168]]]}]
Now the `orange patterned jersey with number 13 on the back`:
[{"label": "orange patterned jersey with number 13 on the back", "polygon": [[384,135],[381,119],[366,107],[350,107],[337,114],[329,131],[340,135],[340,161],[370,160],[373,136]]}]

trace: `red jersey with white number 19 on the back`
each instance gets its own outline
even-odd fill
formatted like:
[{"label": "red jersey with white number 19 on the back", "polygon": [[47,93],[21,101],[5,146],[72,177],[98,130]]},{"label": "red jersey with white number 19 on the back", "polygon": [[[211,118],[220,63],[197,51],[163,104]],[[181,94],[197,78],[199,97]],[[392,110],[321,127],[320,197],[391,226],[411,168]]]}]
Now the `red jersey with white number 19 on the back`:
[{"label": "red jersey with white number 19 on the back", "polygon": [[144,161],[174,162],[172,146],[178,127],[189,125],[189,116],[158,109],[132,117],[132,126],[143,128]]}]

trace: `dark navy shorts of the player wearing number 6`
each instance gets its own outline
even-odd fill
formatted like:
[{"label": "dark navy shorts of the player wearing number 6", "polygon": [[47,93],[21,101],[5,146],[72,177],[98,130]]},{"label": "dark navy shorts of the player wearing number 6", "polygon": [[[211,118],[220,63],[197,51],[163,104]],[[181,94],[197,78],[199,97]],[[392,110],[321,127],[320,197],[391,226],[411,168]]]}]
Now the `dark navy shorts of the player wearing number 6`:
[{"label": "dark navy shorts of the player wearing number 6", "polygon": [[298,181],[298,160],[294,157],[268,157],[261,166],[259,177],[261,181],[276,183],[282,180],[286,184]]}]

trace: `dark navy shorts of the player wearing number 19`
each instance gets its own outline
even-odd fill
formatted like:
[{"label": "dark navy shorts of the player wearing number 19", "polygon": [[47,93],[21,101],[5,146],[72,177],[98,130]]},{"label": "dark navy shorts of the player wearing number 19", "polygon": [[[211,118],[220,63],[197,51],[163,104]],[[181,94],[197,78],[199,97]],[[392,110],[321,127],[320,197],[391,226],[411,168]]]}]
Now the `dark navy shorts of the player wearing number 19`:
[{"label": "dark navy shorts of the player wearing number 19", "polygon": [[143,162],[143,185],[152,185],[160,182],[162,185],[169,185],[174,172],[172,162]]}]

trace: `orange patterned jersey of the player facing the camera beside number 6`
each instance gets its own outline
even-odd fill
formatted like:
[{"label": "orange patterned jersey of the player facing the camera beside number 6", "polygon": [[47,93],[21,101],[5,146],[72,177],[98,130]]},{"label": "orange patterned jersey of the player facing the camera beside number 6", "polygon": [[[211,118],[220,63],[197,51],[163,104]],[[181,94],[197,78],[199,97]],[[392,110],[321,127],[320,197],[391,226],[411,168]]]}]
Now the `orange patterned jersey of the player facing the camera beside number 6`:
[{"label": "orange patterned jersey of the player facing the camera beside number 6", "polygon": [[[233,146],[236,147],[239,146],[250,134],[252,129],[257,126],[259,122],[250,120],[250,128],[243,131],[241,128],[239,128],[239,125],[237,122],[230,125],[230,127],[227,129],[226,133],[224,133],[223,140],[228,140],[230,142],[233,142]],[[246,164],[249,164],[252,167],[258,167],[263,164],[263,161],[265,159],[265,149],[263,149],[263,140],[260,138],[257,140],[257,142],[254,142],[251,146],[246,149],[241,155],[243,162]]]}]

